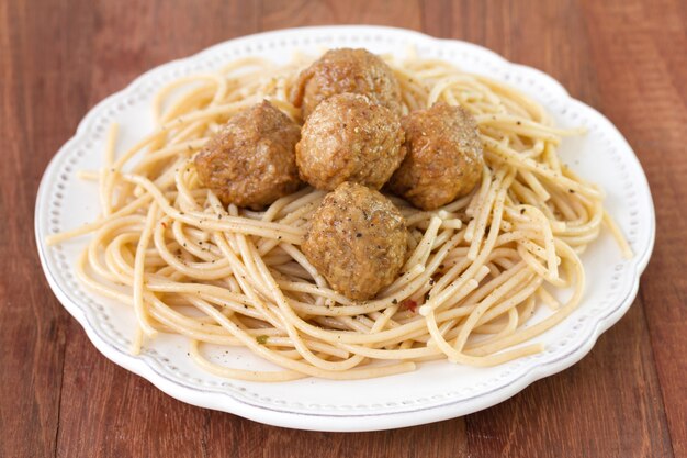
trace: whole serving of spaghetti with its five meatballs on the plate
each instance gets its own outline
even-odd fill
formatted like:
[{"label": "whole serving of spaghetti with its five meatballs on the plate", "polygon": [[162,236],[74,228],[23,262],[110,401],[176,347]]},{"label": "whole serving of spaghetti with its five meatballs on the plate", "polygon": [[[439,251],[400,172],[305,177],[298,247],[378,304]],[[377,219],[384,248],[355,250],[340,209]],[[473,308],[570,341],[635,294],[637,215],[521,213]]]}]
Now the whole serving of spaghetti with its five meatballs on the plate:
[{"label": "whole serving of spaghetti with its five meatballs on the plate", "polygon": [[[442,60],[250,57],[171,82],[153,108],[148,135],[115,154],[113,129],[102,169],[85,174],[100,216],[47,242],[90,234],[68,241],[87,245],[75,273],[132,305],[133,353],[179,334],[222,377],[361,379],[541,351],[536,337],[585,290],[578,255],[605,222],[619,234],[602,191],[558,156],[579,130]],[[382,194],[402,112],[399,196]],[[299,188],[296,168],[334,191]]]}]

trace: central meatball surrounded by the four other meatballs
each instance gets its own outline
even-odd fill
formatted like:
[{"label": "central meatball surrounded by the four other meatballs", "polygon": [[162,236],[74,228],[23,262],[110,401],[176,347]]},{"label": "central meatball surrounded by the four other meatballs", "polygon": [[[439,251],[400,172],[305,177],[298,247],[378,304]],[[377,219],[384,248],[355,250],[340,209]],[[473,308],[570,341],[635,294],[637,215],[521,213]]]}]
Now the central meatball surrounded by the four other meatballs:
[{"label": "central meatball surrounded by the four other meatballs", "polygon": [[296,145],[304,181],[331,190],[344,181],[380,189],[405,156],[401,120],[367,96],[341,93],[307,119]]}]

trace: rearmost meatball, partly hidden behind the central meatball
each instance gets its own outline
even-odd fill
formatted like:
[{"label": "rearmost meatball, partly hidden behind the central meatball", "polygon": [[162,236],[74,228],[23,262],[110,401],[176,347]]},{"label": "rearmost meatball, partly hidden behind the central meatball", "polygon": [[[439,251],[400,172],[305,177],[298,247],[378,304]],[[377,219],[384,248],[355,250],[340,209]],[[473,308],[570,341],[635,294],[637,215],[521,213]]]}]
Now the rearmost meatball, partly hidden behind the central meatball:
[{"label": "rearmost meatball, partly hidden behind the central meatball", "polygon": [[401,115],[401,87],[393,70],[367,49],[329,49],[299,76],[292,101],[302,107],[303,119],[323,100],[353,92]]}]

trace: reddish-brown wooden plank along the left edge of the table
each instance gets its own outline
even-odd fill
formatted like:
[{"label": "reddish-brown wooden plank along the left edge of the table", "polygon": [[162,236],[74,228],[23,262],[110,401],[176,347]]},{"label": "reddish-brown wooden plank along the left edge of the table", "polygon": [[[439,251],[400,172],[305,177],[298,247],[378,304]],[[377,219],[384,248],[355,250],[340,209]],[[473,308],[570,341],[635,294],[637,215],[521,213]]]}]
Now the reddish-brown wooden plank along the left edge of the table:
[{"label": "reddish-brown wooden plank along the left edge of the table", "polygon": [[[63,30],[68,21],[68,5],[48,14],[0,3],[0,454],[7,457],[52,456],[59,428],[69,317],[42,279],[32,209],[49,152],[87,109],[80,96],[88,78],[60,70],[89,55],[88,44]],[[53,46],[59,52],[46,52]]]}]

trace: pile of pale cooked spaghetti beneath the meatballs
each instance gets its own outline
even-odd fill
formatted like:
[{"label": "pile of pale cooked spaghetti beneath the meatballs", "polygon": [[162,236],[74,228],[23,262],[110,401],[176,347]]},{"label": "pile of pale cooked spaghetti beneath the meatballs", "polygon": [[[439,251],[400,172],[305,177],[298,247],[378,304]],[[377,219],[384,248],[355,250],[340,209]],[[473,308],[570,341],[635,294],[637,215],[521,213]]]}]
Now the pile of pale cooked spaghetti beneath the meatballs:
[{"label": "pile of pale cooked spaghetti beneath the meatballs", "polygon": [[[119,157],[112,129],[102,170],[82,174],[99,181],[101,216],[48,242],[91,234],[78,276],[133,306],[134,353],[177,333],[200,367],[259,381],[380,377],[435,359],[497,365],[541,351],[529,340],[578,304],[578,255],[604,222],[629,253],[602,192],[556,156],[561,138],[579,131],[554,127],[531,99],[448,63],[387,60],[405,112],[444,101],[474,114],[487,167],[470,196],[437,211],[388,196],[407,221],[409,257],[368,302],[330,289],[300,250],[324,192],[305,188],[261,212],[225,208],[192,161],[224,122],[263,99],[297,120],[288,94],[307,58],[247,58],[172,82],[155,99],[157,127]],[[532,322],[541,306],[550,311]],[[222,366],[204,344],[247,347],[283,370]]]}]

